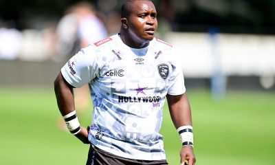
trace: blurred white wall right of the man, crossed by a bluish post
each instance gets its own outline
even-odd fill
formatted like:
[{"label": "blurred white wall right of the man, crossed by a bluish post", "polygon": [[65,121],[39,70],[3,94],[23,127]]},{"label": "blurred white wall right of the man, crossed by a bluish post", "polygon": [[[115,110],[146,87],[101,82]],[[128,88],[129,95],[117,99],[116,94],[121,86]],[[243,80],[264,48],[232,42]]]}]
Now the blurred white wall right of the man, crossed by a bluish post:
[{"label": "blurred white wall right of the man, crossed by a bluish post", "polygon": [[275,76],[275,36],[170,32],[172,44],[190,78],[210,77],[214,68],[225,76]]}]

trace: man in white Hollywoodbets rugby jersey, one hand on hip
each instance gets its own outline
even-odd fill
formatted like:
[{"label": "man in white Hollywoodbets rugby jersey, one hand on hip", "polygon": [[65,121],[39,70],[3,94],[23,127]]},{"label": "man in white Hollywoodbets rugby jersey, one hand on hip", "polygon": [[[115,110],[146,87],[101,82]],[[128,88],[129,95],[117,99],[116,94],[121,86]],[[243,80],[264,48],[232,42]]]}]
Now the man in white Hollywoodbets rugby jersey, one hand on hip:
[{"label": "man in white Hollywoodbets rugby jersey, one hand on hip", "polygon": [[[55,80],[58,108],[71,133],[91,144],[87,164],[167,164],[159,134],[168,101],[183,147],[181,164],[195,164],[184,76],[173,48],[154,37],[157,12],[149,0],[125,1],[119,34],[73,56]],[[80,126],[73,88],[89,84],[92,124]]]}]

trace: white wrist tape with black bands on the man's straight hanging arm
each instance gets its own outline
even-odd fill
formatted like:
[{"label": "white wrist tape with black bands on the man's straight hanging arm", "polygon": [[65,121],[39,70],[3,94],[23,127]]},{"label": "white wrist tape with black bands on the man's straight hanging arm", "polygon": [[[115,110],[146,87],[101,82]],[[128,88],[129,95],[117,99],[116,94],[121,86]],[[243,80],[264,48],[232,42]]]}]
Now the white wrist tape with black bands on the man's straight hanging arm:
[{"label": "white wrist tape with black bands on the man's straight hanging arm", "polygon": [[182,146],[193,146],[192,126],[180,126],[177,131],[179,132]]}]

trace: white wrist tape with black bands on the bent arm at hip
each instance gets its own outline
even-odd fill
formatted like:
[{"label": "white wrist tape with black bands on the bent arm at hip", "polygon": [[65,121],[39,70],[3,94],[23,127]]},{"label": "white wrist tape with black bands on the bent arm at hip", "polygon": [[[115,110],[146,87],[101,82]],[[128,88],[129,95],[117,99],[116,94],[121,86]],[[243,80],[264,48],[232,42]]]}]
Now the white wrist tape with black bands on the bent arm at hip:
[{"label": "white wrist tape with black bands on the bent arm at hip", "polygon": [[80,132],[81,126],[80,126],[80,123],[78,122],[76,111],[72,111],[67,115],[64,115],[63,118],[66,122],[67,128],[72,134],[76,135],[77,133]]}]

